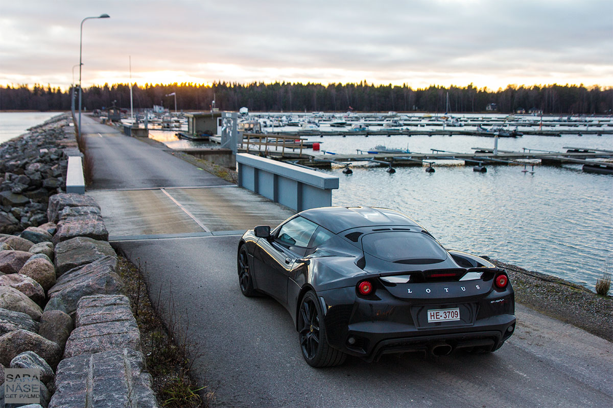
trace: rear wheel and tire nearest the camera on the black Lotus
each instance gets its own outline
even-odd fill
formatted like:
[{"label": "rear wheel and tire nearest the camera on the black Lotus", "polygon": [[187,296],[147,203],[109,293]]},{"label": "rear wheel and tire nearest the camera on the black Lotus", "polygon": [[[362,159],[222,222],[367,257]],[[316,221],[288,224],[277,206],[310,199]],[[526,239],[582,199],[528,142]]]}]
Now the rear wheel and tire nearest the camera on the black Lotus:
[{"label": "rear wheel and tire nearest the camera on the black Lotus", "polygon": [[323,316],[317,295],[308,291],[300,301],[298,313],[298,339],[302,357],[313,367],[341,365],[347,355],[328,344]]}]

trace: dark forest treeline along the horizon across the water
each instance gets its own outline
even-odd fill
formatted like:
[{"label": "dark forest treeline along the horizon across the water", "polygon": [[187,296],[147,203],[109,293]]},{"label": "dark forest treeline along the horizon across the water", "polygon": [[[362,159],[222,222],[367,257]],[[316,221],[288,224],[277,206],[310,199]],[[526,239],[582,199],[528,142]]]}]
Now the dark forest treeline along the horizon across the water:
[{"label": "dark forest treeline along the horizon across the water", "polygon": [[[217,82],[212,85],[193,83],[145,84],[132,88],[134,109],[162,105],[175,108],[173,92],[177,95],[179,111],[221,110],[236,111],[246,106],[250,111],[337,111],[349,109],[363,112],[427,111],[445,112],[449,94],[449,112],[482,112],[492,103],[502,113],[518,109],[538,109],[546,114],[611,114],[613,89],[598,86],[557,84],[546,86],[513,86],[490,91],[472,85],[466,87],[430,86],[412,89],[409,86],[367,84],[300,84]],[[128,84],[104,84],[83,88],[83,107],[87,110],[115,105],[130,107]],[[70,90],[26,85],[0,87],[0,109],[69,110]],[[78,103],[78,102],[77,102]]]}]

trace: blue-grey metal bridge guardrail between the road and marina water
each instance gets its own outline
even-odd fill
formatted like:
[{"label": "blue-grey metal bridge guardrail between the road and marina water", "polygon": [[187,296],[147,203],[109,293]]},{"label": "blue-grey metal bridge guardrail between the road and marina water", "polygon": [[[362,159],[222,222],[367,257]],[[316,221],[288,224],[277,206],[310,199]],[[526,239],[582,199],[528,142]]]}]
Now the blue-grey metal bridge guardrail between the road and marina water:
[{"label": "blue-grey metal bridge guardrail between the road and marina water", "polygon": [[274,202],[302,211],[332,205],[338,177],[288,165],[281,161],[239,153],[238,185]]}]

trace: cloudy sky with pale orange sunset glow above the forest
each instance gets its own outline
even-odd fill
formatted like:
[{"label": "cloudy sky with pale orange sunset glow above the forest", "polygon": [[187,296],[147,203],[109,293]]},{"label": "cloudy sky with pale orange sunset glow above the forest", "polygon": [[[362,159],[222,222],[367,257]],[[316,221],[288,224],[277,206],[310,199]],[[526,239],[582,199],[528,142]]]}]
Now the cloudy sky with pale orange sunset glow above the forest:
[{"label": "cloudy sky with pale orange sunset glow above the forest", "polygon": [[[0,85],[613,86],[606,0],[0,0]],[[74,80],[73,80],[74,72]]]}]

